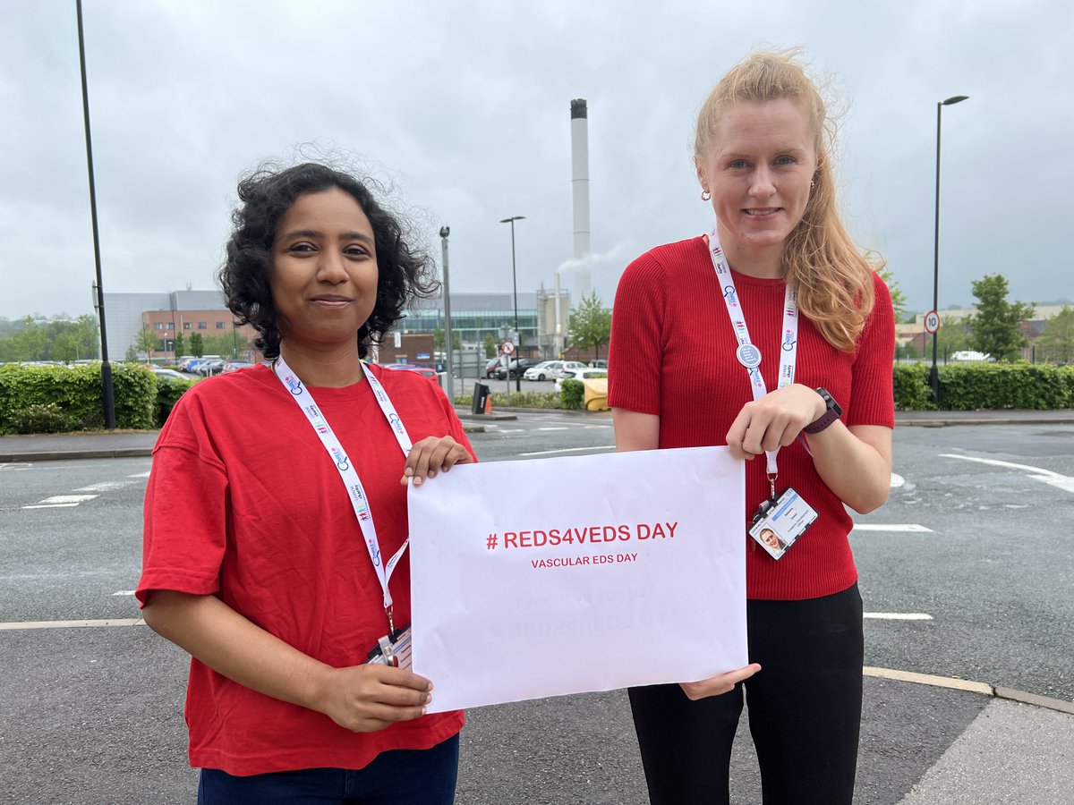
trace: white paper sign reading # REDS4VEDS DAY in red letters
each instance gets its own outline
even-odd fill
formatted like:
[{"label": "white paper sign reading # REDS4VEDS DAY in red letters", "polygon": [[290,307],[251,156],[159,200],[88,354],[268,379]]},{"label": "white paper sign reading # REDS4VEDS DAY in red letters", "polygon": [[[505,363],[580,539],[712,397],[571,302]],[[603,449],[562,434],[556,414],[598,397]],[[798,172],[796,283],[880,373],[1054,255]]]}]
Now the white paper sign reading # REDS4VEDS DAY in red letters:
[{"label": "white paper sign reading # REDS4VEDS DAY in red letters", "polygon": [[411,486],[430,711],[742,668],[744,510],[726,448],[463,465]]}]

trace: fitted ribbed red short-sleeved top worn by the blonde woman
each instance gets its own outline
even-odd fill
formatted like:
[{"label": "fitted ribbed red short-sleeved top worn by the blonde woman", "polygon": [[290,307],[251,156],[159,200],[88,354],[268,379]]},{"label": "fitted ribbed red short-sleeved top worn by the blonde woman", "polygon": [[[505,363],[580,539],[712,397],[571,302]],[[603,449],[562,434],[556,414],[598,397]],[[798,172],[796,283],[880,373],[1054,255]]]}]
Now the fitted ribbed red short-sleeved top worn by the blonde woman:
[{"label": "fitted ribbed red short-sleeved top worn by the blonde woman", "polygon": [[[853,354],[830,346],[799,317],[795,382],[824,386],[846,425],[895,426],[891,366],[895,317],[887,286],[873,277],[876,301]],[[735,273],[761,375],[775,389],[783,324],[782,279]],[[746,370],[703,238],[661,246],[634,261],[620,279],[609,346],[608,404],[661,418],[659,447],[727,443],[727,430],[753,399]],[[779,560],[749,536],[746,595],[754,599],[818,598],[857,581],[847,541],[853,522],[825,485],[801,441],[778,456],[777,492],[794,487],[818,513]],[[745,463],[746,522],[768,497],[764,456]]]}]

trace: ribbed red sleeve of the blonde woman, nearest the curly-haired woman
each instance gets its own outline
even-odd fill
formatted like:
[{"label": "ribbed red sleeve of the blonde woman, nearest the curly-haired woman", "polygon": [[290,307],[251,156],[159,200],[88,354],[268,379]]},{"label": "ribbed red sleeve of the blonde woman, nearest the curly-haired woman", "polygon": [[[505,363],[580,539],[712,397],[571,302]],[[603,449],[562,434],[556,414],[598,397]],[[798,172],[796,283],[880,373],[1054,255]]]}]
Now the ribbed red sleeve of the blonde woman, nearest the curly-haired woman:
[{"label": "ribbed red sleeve of the blonde woman, nearest the curly-haired woman", "polygon": [[612,307],[608,346],[608,405],[639,413],[661,413],[667,275],[642,254],[623,272]]}]

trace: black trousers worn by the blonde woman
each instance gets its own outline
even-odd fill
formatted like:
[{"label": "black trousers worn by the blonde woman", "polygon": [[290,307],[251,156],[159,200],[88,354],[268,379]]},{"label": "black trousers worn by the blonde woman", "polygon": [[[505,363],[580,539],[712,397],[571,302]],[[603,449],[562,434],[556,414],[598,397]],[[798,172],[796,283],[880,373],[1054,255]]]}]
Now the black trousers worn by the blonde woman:
[{"label": "black trousers worn by the blonde woman", "polygon": [[857,585],[804,601],[749,601],[746,631],[761,670],[729,693],[692,702],[678,685],[630,688],[650,802],[730,802],[744,686],[765,805],[851,803],[865,655]]}]

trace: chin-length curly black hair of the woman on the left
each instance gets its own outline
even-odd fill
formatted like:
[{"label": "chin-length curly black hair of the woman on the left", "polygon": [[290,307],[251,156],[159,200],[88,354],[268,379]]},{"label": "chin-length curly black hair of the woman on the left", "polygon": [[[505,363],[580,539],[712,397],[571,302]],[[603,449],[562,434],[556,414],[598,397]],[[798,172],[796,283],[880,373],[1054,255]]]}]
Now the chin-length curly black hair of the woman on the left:
[{"label": "chin-length curly black hair of the woman on the left", "polygon": [[[373,182],[368,182],[373,184]],[[280,219],[303,193],[338,188],[358,202],[373,225],[377,250],[377,302],[358,331],[359,354],[379,343],[413,298],[439,289],[432,258],[404,241],[400,219],[384,209],[361,180],[328,165],[306,162],[293,167],[262,167],[238,182],[241,202],[232,213],[227,258],[217,274],[228,308],[240,323],[258,331],[253,345],[268,360],[279,355],[278,313],[272,301],[272,245]],[[378,188],[379,189],[379,188]]]}]

